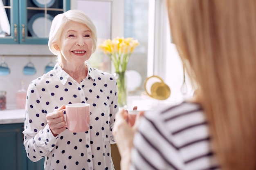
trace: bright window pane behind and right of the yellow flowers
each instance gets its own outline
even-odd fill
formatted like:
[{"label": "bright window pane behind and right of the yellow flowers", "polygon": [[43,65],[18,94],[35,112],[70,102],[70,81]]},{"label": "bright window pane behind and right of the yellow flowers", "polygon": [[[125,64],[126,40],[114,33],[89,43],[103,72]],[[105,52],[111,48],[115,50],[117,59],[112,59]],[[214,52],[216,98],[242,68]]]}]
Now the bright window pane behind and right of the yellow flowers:
[{"label": "bright window pane behind and right of the yellow flowers", "polygon": [[[132,77],[132,83],[140,84],[137,88],[129,88],[130,95],[139,95],[144,91],[144,81],[147,78],[148,72],[148,13],[149,13],[149,0],[124,0],[124,37],[132,37],[139,41],[139,46],[130,56],[127,65],[127,73],[129,71],[137,71],[141,79]],[[151,35],[153,36],[153,35]],[[132,75],[130,75],[132,76]],[[128,81],[130,80],[128,76]],[[136,86],[135,86],[136,87]]]}]

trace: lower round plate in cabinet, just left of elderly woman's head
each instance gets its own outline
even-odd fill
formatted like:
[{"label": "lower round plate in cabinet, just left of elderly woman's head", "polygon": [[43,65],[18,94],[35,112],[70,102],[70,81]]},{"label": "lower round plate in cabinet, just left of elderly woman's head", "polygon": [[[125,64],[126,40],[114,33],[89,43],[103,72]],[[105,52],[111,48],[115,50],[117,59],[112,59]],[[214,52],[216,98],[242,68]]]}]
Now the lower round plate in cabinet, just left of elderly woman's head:
[{"label": "lower round plate in cabinet, just left of elderly woman's head", "polygon": [[[33,15],[28,22],[28,30],[34,37],[48,38],[50,27],[52,25],[53,16],[45,13],[37,13]],[[46,22],[46,24],[44,24]]]}]

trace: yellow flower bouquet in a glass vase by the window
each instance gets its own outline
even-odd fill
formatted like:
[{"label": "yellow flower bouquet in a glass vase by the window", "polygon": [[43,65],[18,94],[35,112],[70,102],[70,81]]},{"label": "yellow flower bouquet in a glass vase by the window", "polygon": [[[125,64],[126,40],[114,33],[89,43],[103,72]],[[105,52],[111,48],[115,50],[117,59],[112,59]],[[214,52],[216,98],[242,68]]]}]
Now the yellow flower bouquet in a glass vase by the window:
[{"label": "yellow flower bouquet in a glass vase by the window", "polygon": [[110,57],[115,66],[115,77],[117,79],[118,103],[124,107],[127,104],[127,90],[125,71],[130,55],[135,47],[139,45],[137,40],[133,38],[115,38],[113,40],[105,40],[99,48]]}]

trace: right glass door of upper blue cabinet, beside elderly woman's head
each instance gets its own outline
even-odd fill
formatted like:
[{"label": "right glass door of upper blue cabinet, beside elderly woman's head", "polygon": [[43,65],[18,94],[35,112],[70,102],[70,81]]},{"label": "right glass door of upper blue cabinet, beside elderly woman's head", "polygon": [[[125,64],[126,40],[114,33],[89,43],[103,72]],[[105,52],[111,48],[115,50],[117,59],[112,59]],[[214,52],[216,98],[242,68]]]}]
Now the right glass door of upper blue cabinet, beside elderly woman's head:
[{"label": "right glass door of upper blue cabinet, beside elderly woman's head", "polygon": [[53,18],[70,9],[70,0],[20,0],[21,44],[47,44]]}]

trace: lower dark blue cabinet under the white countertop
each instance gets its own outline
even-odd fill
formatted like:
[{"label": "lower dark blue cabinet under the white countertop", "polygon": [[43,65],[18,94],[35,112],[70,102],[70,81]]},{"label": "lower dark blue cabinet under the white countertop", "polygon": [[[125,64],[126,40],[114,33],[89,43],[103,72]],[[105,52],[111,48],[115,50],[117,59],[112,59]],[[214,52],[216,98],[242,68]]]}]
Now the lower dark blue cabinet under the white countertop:
[{"label": "lower dark blue cabinet under the white countertop", "polygon": [[0,124],[1,170],[43,170],[44,159],[32,162],[23,146],[23,123]]}]

